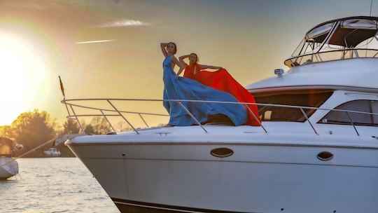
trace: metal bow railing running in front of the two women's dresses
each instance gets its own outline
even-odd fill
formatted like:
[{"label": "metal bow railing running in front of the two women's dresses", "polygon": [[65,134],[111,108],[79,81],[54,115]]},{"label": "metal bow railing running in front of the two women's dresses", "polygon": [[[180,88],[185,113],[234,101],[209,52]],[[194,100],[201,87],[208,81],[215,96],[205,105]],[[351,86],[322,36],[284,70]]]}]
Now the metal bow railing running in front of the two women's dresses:
[{"label": "metal bow railing running in front of the two women's dresses", "polygon": [[[111,107],[111,109],[108,108],[103,108],[103,107],[89,107],[87,104],[77,104],[76,102],[93,102],[93,101],[102,101],[106,102],[106,104],[109,104],[108,106]],[[190,99],[118,99],[118,98],[89,98],[89,99],[63,99],[61,102],[65,104],[66,110],[68,112],[68,116],[66,118],[73,119],[75,120],[78,125],[80,126],[80,130],[85,133],[85,130],[83,128],[82,123],[80,123],[79,118],[80,117],[94,117],[94,116],[102,116],[106,119],[106,121],[109,123],[110,128],[113,130],[113,132],[116,132],[116,129],[114,128],[113,124],[111,121],[109,121],[109,117],[112,116],[118,116],[120,118],[123,118],[123,120],[130,125],[132,130],[136,132],[138,135],[140,134],[140,128],[136,128],[135,125],[133,125],[129,119],[126,118],[124,114],[135,114],[138,115],[141,120],[143,121],[144,125],[146,125],[146,128],[150,128],[148,123],[146,122],[146,119],[144,116],[169,116],[169,114],[155,114],[155,113],[149,113],[149,112],[141,112],[141,111],[123,111],[119,110],[114,102],[116,101],[123,101],[123,102],[176,102],[181,106],[187,113],[188,116],[190,116],[197,125],[204,130],[204,132],[208,133],[206,130],[205,125],[200,123],[195,116],[185,107],[183,103],[185,102],[200,102],[200,103],[215,103],[215,104],[241,104],[248,109],[248,114],[251,114],[255,121],[259,123],[260,128],[265,133],[268,133],[267,129],[264,126],[264,122],[260,121],[258,118],[258,115],[253,114],[251,109],[249,109],[248,105],[256,105],[258,107],[283,107],[283,108],[291,108],[291,109],[298,109],[303,117],[305,118],[304,121],[307,121],[309,123],[309,127],[314,131],[316,135],[318,134],[318,131],[316,130],[313,122],[310,121],[309,116],[306,114],[305,110],[312,110],[312,111],[317,111],[317,110],[322,110],[322,111],[339,111],[343,112],[346,114],[346,117],[349,120],[349,124],[353,126],[354,131],[356,132],[356,135],[360,135],[356,128],[356,124],[352,121],[350,114],[368,114],[372,116],[378,116],[377,113],[370,113],[370,112],[364,112],[364,111],[351,111],[351,110],[342,110],[342,109],[326,109],[326,108],[320,108],[320,107],[302,107],[302,106],[292,106],[292,105],[285,105],[285,104],[262,104],[262,103],[248,103],[248,102],[222,102],[222,101],[204,101],[204,100],[190,100]],[[75,109],[91,109],[98,111],[98,114],[77,114]],[[71,110],[69,110],[71,109]],[[113,113],[113,114],[109,114]]]}]

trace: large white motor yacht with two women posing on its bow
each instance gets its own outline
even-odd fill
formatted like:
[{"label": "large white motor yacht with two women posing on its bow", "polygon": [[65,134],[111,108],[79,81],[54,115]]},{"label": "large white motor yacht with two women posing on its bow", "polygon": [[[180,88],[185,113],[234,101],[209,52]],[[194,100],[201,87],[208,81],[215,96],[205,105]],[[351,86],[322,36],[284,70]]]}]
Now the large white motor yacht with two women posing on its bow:
[{"label": "large white motor yacht with two women posing on its bow", "polygon": [[256,103],[234,103],[258,105],[259,126],[138,128],[130,114],[167,115],[116,103],[162,100],[64,99],[68,118],[86,108],[133,128],[65,144],[120,212],[377,212],[377,26],[358,16],[310,29],[288,71],[246,86]]}]

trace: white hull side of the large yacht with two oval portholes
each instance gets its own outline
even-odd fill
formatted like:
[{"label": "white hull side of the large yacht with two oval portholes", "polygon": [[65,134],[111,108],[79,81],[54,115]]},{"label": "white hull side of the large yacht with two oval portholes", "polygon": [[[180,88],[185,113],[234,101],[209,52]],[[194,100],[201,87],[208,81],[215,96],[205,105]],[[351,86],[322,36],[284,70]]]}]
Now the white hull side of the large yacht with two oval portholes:
[{"label": "white hull side of the large yacht with two oval portholes", "polygon": [[[66,143],[121,212],[377,212],[378,149]],[[330,143],[332,144],[332,143]],[[227,147],[228,158],[210,155]],[[335,158],[319,160],[321,151]]]}]

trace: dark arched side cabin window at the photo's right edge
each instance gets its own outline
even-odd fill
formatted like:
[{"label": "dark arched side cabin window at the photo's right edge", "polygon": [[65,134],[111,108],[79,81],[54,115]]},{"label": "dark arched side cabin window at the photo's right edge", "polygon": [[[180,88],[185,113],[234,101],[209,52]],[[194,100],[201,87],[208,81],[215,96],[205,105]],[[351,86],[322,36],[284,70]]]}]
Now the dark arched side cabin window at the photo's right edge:
[{"label": "dark arched side cabin window at the photo's right edge", "polygon": [[[378,101],[363,99],[354,100],[341,104],[335,109],[378,113]],[[378,125],[378,116],[353,112],[348,112],[346,114],[344,111],[330,111],[318,123],[351,125],[351,121],[354,125]]]}]

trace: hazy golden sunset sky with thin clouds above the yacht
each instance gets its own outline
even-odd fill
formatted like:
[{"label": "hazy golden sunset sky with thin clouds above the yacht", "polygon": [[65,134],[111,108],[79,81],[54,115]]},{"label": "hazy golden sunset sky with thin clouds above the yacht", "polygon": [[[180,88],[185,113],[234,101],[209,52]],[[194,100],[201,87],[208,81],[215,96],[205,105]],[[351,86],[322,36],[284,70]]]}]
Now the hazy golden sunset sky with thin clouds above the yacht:
[{"label": "hazy golden sunset sky with thin clouds above the yacht", "polygon": [[[0,125],[33,109],[48,111],[63,123],[67,113],[60,103],[58,76],[66,99],[161,99],[161,42],[174,41],[176,56],[197,53],[201,64],[228,69],[242,85],[260,81],[273,76],[274,69],[287,70],[283,61],[309,29],[327,20],[369,15],[370,4],[0,1]],[[378,15],[377,0],[372,1],[372,15]],[[117,104],[124,110],[165,113],[158,103]]]}]

